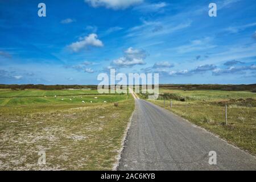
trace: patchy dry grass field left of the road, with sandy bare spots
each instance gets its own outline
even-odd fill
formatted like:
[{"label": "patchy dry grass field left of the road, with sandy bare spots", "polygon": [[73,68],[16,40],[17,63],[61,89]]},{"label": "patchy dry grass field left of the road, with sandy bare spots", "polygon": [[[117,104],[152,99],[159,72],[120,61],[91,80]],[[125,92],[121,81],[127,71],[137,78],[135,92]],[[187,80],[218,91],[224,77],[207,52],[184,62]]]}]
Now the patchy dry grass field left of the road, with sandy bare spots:
[{"label": "patchy dry grass field left of the road, with sandy bare spots", "polygon": [[[19,98],[19,102],[6,98],[10,101],[0,110],[0,169],[112,169],[134,110],[133,98],[130,94],[82,97],[72,102],[67,97],[67,103],[59,97]],[[46,152],[46,165],[39,166],[39,151]]]}]

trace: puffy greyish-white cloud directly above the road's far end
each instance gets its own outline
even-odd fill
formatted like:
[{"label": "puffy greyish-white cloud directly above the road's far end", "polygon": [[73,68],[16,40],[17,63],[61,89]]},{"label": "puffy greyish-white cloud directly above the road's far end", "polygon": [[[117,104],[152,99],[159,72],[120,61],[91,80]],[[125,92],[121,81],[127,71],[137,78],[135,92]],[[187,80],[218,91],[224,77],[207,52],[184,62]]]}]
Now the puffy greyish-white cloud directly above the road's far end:
[{"label": "puffy greyish-white cloud directly above the road's far end", "polygon": [[144,59],[147,57],[147,53],[145,51],[129,47],[124,52],[125,55],[113,60],[113,64],[117,65],[118,67],[133,67],[134,65],[145,64]]}]

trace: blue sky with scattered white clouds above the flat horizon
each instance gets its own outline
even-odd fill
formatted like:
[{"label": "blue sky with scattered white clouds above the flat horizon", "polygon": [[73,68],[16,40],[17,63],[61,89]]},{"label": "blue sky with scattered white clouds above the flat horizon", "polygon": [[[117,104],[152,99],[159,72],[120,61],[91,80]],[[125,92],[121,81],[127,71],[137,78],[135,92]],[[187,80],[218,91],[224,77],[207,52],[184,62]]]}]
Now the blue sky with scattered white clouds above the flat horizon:
[{"label": "blue sky with scattered white clouds above the flat horizon", "polygon": [[98,84],[110,68],[161,84],[254,84],[255,13],[253,0],[0,1],[0,84]]}]

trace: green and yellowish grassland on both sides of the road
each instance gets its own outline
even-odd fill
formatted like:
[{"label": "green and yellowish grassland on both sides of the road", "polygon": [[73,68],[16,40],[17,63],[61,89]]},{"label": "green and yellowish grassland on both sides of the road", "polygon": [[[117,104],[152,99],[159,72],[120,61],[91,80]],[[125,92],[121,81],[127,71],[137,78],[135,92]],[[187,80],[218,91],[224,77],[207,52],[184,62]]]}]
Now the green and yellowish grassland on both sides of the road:
[{"label": "green and yellowish grassland on both sides of the road", "polygon": [[[256,155],[256,93],[160,87],[150,101]],[[110,170],[134,100],[95,89],[0,89],[0,108],[1,170]]]}]

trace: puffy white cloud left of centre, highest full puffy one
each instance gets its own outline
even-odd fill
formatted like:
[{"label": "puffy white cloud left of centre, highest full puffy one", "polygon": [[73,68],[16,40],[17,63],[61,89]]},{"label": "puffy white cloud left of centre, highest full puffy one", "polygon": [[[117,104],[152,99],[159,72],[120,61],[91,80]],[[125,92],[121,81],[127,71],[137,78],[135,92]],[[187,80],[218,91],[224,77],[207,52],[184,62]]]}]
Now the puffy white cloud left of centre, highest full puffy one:
[{"label": "puffy white cloud left of centre, highest full puffy one", "polygon": [[101,40],[97,39],[96,34],[90,34],[89,36],[81,38],[80,41],[72,43],[71,45],[69,45],[69,48],[71,48],[75,52],[78,52],[82,48],[86,48],[88,46],[103,47],[104,44],[101,42]]}]

